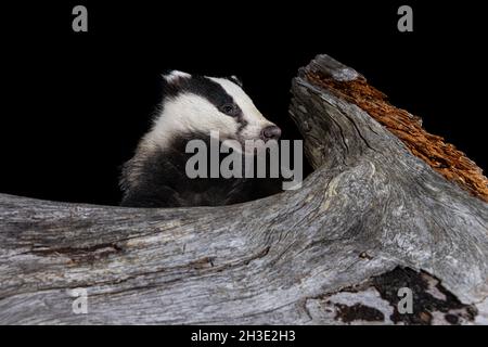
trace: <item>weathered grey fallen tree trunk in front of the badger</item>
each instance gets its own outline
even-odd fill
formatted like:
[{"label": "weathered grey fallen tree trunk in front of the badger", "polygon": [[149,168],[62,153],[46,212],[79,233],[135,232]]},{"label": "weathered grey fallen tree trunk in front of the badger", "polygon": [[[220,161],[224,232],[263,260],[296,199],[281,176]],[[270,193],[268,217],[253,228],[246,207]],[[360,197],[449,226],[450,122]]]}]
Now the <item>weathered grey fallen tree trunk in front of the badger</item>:
[{"label": "weathered grey fallen tree trunk in front of the badger", "polygon": [[0,195],[0,323],[486,323],[480,170],[326,55],[293,95],[300,190],[169,209]]}]

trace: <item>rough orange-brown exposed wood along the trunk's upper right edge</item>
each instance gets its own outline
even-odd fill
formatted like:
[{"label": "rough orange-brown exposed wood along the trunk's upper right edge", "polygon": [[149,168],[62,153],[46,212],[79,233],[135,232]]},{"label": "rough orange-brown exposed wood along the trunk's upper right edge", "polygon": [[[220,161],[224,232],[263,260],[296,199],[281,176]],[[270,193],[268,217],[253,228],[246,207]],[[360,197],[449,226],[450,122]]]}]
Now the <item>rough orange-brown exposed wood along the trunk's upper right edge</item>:
[{"label": "rough orange-brown exposed wood along the trunk's upper right edge", "polygon": [[319,70],[308,70],[305,75],[311,83],[368,112],[436,171],[488,202],[488,179],[483,170],[444,138],[424,130],[420,117],[389,104],[387,97],[368,85],[365,78],[358,76],[354,80],[338,81]]}]

